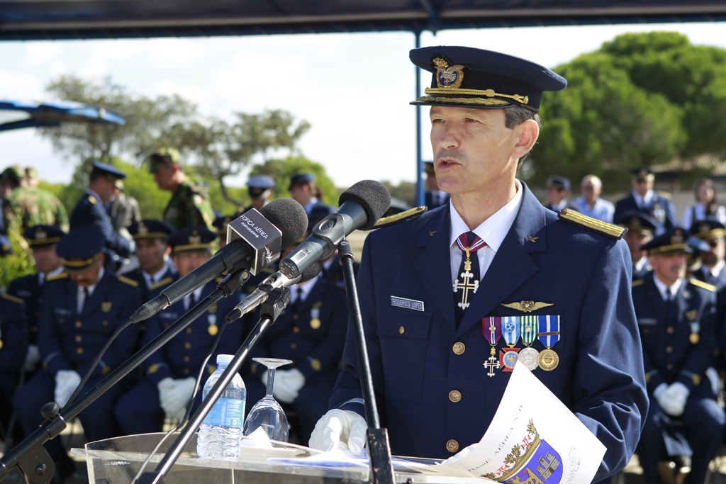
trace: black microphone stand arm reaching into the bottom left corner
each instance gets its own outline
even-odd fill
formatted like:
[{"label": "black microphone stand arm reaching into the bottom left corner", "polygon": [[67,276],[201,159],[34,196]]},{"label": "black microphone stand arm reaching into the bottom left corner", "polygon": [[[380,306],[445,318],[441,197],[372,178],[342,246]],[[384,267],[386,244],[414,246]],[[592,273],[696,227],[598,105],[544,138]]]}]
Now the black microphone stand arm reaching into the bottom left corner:
[{"label": "black microphone stand arm reaching into the bottom left corner", "polygon": [[240,290],[249,278],[250,274],[247,269],[229,274],[219,283],[216,290],[211,292],[204,300],[200,301],[200,303],[190,309],[184,316],[177,319],[174,324],[161,332],[160,335],[139,350],[138,353],[131,356],[121,366],[108,374],[98,385],[89,390],[81,398],[78,398],[68,409],[63,409],[63,415],[60,414],[60,409],[58,409],[56,403],[46,403],[41,409],[41,414],[46,419],[46,422],[43,422],[37,430],[28,435],[23,442],[15,448],[12,448],[11,451],[7,452],[0,459],[0,480],[4,480],[12,468],[17,466],[25,475],[28,483],[49,483],[55,472],[55,464],[43,444],[60,435],[66,427],[65,422],[70,421],[80,414],[83,409],[93,403],[106,390],[113,387],[123,377],[131,373],[136,366],[142,364],[152,353],[155,353],[163,345],[166,345],[169,340],[205,313],[212,305],[218,303],[221,298],[227,298],[227,296]]}]

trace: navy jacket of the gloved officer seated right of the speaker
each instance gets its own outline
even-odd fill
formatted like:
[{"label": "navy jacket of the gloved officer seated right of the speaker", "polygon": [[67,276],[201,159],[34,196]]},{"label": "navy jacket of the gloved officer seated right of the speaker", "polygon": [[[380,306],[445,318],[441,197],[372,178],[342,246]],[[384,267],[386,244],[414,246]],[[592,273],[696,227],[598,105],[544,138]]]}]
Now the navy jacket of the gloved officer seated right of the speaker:
[{"label": "navy jacket of the gloved officer seated right of the speaker", "polygon": [[[661,383],[681,382],[692,393],[715,398],[706,369],[714,366],[718,346],[714,334],[716,293],[697,280],[681,284],[676,296],[677,316],[669,316],[653,277],[653,273],[648,274],[632,288],[648,391],[652,393]],[[690,339],[694,330],[698,333],[696,342]]]}]

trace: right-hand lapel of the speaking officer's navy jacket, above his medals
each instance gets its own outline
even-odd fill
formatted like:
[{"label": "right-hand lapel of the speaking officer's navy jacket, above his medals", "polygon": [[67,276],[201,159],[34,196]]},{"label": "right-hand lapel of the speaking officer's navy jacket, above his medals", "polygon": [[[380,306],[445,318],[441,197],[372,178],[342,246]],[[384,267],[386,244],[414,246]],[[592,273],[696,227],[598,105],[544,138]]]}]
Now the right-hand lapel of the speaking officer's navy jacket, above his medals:
[{"label": "right-hand lapel of the speaking officer's navy jacket, above his medals", "polygon": [[523,200],[517,217],[486,270],[457,334],[466,332],[497,305],[506,302],[508,295],[539,271],[529,254],[547,249],[546,212],[523,183],[522,188]]}]

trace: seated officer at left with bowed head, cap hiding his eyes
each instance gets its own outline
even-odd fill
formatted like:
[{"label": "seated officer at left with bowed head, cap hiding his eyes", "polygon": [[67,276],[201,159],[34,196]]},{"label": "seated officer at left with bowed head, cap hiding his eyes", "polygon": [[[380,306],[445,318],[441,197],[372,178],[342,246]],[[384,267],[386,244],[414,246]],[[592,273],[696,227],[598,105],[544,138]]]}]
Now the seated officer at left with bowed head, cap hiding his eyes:
[{"label": "seated officer at left with bowed head, cap hiding his eyes", "polygon": [[[83,376],[91,369],[99,350],[118,327],[129,320],[141,305],[136,282],[115,276],[104,267],[103,234],[95,226],[70,229],[57,245],[65,272],[47,278],[41,304],[38,345],[43,369],[18,390],[13,403],[25,435],[42,422],[40,409],[55,401],[61,408],[68,403]],[[116,337],[102,356],[81,395],[133,353],[139,329],[132,324]],[[110,418],[122,385],[114,385],[81,411],[78,418],[89,440],[118,435]],[[68,471],[68,458],[62,456],[59,438],[46,444],[57,462],[60,475]]]}]

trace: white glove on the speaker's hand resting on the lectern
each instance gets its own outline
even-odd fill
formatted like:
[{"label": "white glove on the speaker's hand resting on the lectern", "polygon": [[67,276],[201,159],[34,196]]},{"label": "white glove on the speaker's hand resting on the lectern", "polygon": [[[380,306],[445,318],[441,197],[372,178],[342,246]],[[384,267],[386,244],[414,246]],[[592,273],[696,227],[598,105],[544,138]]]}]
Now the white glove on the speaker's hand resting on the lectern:
[{"label": "white glove on the speaker's hand resting on the lectern", "polygon": [[365,419],[356,412],[333,409],[317,421],[308,445],[326,452],[347,448],[352,454],[360,455],[367,430]]}]

